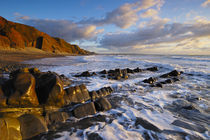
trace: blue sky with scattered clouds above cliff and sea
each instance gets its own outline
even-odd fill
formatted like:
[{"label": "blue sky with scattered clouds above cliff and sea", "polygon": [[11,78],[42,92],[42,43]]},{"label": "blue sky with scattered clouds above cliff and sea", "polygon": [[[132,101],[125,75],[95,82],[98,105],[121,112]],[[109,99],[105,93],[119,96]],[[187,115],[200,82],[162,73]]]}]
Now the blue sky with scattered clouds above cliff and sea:
[{"label": "blue sky with scattered clouds above cliff and sea", "polygon": [[5,0],[0,16],[98,53],[210,55],[210,0]]}]

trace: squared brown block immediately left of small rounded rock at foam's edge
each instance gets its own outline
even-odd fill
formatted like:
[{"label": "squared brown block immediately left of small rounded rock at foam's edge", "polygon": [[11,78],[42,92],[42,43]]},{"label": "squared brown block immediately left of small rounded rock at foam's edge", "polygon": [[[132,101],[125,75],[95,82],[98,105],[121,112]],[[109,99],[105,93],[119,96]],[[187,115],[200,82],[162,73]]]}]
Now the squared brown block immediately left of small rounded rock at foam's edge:
[{"label": "squared brown block immediately left of small rounded rock at foam's edge", "polygon": [[93,102],[82,104],[73,110],[73,115],[76,118],[82,118],[94,114],[96,114],[96,109]]}]

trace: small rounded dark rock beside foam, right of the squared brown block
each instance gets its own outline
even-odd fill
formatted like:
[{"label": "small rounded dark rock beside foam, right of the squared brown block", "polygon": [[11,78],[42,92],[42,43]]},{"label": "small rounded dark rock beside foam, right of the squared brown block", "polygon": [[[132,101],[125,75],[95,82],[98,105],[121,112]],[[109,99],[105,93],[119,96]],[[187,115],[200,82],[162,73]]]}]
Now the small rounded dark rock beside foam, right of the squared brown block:
[{"label": "small rounded dark rock beside foam, right of the squared brown block", "polygon": [[112,105],[106,98],[99,98],[94,104],[97,111],[107,111],[112,108]]}]

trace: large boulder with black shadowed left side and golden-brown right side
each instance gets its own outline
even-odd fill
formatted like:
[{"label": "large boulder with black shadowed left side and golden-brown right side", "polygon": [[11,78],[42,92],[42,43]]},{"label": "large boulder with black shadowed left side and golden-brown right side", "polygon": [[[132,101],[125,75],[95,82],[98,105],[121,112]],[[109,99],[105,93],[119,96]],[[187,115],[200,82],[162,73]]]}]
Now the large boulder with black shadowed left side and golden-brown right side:
[{"label": "large boulder with black shadowed left side and golden-brown right side", "polygon": [[37,78],[36,92],[40,104],[58,107],[64,105],[63,83],[54,73],[44,73]]}]

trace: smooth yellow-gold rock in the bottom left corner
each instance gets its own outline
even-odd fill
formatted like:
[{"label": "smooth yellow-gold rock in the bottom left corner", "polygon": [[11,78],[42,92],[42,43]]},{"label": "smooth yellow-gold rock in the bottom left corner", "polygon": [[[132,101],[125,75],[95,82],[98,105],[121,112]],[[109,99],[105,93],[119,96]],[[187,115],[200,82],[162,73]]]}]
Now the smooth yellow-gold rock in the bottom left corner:
[{"label": "smooth yellow-gold rock in the bottom left corner", "polygon": [[20,123],[15,118],[0,118],[0,139],[22,140]]}]

